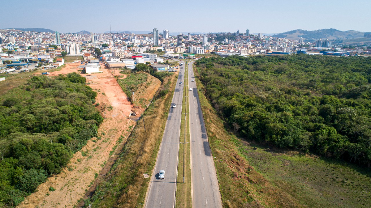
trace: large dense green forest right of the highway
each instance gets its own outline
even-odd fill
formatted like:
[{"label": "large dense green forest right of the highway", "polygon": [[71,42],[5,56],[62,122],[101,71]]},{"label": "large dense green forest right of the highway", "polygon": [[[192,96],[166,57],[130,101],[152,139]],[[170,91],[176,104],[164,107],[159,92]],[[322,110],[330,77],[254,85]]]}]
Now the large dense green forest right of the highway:
[{"label": "large dense green forest right of the highway", "polygon": [[243,137],[371,166],[371,57],[196,61],[214,108]]}]

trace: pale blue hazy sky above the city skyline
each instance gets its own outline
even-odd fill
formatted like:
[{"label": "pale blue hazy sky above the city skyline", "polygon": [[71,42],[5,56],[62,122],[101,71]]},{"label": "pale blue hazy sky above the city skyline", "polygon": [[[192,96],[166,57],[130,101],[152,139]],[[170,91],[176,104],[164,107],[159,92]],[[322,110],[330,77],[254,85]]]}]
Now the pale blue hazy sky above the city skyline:
[{"label": "pale blue hazy sky above the city skyline", "polygon": [[[7,0],[0,28],[281,33],[289,30],[371,32],[371,0]],[[12,12],[6,12],[12,11]]]}]

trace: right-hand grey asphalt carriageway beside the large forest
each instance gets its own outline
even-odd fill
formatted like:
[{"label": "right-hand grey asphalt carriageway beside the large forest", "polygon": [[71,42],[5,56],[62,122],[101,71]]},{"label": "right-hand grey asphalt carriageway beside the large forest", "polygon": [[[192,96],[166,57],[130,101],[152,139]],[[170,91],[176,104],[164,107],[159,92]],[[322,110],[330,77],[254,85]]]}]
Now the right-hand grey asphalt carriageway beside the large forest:
[{"label": "right-hand grey asphalt carriageway beside the large forest", "polygon": [[[189,122],[191,141],[192,207],[221,208],[221,195],[213,156],[207,138],[204,117],[193,73],[193,61],[188,63]],[[189,90],[189,89],[188,89]]]}]

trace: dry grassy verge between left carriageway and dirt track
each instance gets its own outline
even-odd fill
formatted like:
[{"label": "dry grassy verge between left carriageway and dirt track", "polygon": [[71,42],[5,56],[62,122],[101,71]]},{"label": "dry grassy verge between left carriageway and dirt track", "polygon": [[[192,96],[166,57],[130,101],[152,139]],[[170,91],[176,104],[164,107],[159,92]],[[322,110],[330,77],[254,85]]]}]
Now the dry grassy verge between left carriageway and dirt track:
[{"label": "dry grassy verge between left carriageway and dirt track", "polygon": [[157,99],[144,113],[145,130],[143,119],[140,119],[110,173],[98,185],[95,194],[85,200],[86,207],[89,204],[92,207],[143,207],[151,179],[144,178],[143,174],[151,174],[154,168],[175,80],[175,74],[164,78],[162,87],[168,86],[168,93],[163,97],[155,96]]}]

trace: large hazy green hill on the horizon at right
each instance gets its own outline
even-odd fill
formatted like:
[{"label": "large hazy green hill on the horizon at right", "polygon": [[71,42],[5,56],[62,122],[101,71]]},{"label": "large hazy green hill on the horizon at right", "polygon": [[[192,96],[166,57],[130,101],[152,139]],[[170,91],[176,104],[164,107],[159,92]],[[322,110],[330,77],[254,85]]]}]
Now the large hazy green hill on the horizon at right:
[{"label": "large hazy green hill on the horizon at right", "polygon": [[304,38],[305,41],[314,42],[318,40],[319,38],[328,38],[329,40],[361,38],[361,37],[364,37],[364,32],[355,31],[355,30],[341,31],[341,30],[336,30],[334,28],[312,30],[312,31],[291,30],[285,33],[279,33],[279,34],[273,35],[273,37],[288,38],[291,40],[299,40],[302,37]]}]

